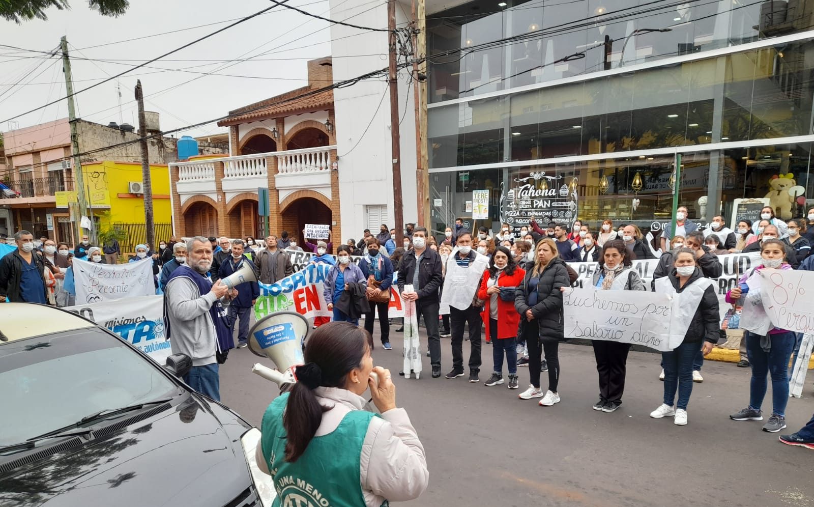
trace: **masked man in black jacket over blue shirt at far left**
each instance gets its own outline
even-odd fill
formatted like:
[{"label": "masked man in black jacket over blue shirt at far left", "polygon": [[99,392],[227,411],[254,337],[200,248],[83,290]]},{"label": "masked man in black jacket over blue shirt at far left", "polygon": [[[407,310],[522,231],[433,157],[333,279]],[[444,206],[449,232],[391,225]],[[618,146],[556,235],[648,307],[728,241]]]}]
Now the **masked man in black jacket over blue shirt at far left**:
[{"label": "masked man in black jacket over blue shirt at far left", "polygon": [[33,234],[19,231],[14,239],[17,249],[0,261],[0,302],[47,303],[45,265],[34,253]]}]

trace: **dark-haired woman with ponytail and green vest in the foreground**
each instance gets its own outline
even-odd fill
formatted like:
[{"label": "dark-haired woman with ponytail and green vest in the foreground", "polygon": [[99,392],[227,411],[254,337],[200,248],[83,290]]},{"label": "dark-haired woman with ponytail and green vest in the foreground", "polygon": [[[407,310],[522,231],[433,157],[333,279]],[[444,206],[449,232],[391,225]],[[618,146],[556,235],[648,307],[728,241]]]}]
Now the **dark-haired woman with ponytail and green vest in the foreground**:
[{"label": "dark-haired woman with ponytail and green vest in the foreground", "polygon": [[[274,505],[379,507],[427,488],[424,447],[396,408],[390,371],[373,367],[371,345],[369,333],[347,322],[324,324],[306,341],[297,383],[260,425],[256,459],[274,481]],[[369,388],[380,416],[364,410]]]}]

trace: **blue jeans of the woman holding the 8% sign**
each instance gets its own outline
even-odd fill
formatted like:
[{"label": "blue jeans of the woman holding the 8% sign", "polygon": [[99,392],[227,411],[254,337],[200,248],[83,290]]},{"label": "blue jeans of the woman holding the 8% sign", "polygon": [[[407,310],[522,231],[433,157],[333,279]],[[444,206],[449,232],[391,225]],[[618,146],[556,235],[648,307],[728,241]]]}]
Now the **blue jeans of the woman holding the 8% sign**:
[{"label": "blue jeans of the woman holding the 8% sign", "polygon": [[764,352],[760,348],[760,335],[746,333],[746,354],[752,367],[752,380],[749,389],[749,408],[760,410],[766,396],[768,384],[766,375],[772,375],[772,414],[786,417],[786,403],[789,403],[789,359],[794,350],[796,337],[791,331],[771,334],[772,348]]}]

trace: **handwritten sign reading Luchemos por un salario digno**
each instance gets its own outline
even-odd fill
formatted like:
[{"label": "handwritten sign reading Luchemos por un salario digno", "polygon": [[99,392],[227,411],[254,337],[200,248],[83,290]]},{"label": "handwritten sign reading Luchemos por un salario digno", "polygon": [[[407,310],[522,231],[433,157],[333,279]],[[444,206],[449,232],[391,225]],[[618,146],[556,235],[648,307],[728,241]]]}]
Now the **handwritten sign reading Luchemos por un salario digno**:
[{"label": "handwritten sign reading Luchemos por un salario digno", "polygon": [[672,350],[672,301],[666,294],[571,289],[562,298],[565,337],[633,343]]}]

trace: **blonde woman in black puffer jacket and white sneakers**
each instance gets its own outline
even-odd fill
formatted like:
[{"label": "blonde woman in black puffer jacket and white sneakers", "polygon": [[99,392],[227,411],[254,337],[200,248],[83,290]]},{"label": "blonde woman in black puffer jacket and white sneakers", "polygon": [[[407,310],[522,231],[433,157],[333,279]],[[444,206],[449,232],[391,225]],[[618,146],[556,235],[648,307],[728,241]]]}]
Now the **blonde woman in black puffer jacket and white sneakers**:
[{"label": "blonde woman in black puffer jacket and white sneakers", "polygon": [[[534,266],[526,271],[523,284],[517,288],[514,307],[520,314],[520,334],[528,346],[528,373],[531,386],[520,393],[520,399],[542,398],[540,405],[558,403],[559,342],[562,331],[561,287],[570,287],[565,262],[559,258],[557,245],[550,238],[537,242]],[[549,390],[540,389],[540,353],[545,350],[549,366]]]}]

